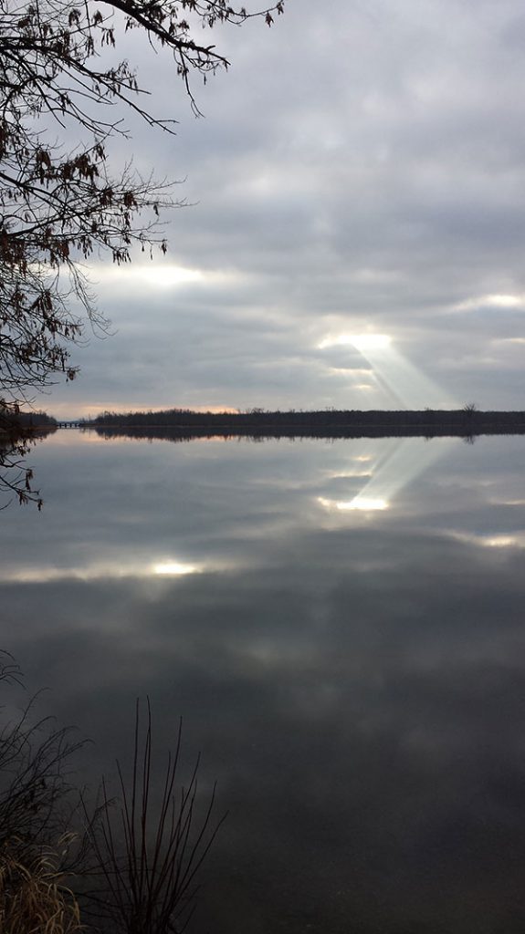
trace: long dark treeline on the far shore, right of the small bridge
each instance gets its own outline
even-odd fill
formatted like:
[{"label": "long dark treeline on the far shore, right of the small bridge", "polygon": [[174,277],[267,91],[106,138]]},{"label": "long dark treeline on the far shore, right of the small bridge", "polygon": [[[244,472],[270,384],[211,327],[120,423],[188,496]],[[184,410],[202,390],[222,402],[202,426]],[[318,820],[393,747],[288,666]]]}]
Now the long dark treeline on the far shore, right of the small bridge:
[{"label": "long dark treeline on the far shore, right of the small bridge", "polygon": [[338,410],[194,412],[163,409],[156,412],[104,412],[81,421],[81,429],[95,430],[107,438],[130,437],[191,440],[192,438],[425,438],[481,434],[524,434],[525,411],[481,412],[474,404],[462,409],[416,411]]}]

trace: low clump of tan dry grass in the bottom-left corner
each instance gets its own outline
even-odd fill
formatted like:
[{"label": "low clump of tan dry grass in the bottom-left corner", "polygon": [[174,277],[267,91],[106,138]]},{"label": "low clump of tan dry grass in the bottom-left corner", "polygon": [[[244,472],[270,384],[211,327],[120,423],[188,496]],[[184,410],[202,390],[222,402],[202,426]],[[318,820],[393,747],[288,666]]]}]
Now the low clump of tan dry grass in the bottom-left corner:
[{"label": "low clump of tan dry grass in the bottom-left corner", "polygon": [[76,934],[84,930],[78,903],[57,870],[54,854],[22,863],[7,847],[0,853],[1,934]]}]

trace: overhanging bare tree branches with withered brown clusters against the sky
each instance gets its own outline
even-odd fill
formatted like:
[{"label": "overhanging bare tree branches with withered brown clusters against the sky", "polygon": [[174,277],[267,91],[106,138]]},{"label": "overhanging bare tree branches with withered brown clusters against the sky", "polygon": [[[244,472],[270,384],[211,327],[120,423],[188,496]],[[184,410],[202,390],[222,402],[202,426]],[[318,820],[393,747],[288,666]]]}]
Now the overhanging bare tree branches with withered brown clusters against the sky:
[{"label": "overhanging bare tree branches with withered brown clusters against the sky", "polygon": [[[226,0],[0,0],[4,406],[57,375],[73,379],[71,342],[79,340],[86,320],[105,327],[79,261],[104,251],[114,262],[128,262],[133,244],[165,251],[159,214],[181,204],[171,184],[141,177],[131,164],[111,174],[108,143],[125,135],[119,105],[165,132],[173,133],[175,124],[144,106],[135,68],[117,52],[123,33],[140,30],[172,55],[198,113],[192,76],[206,80],[229,64],[203,42],[207,30],[253,17],[271,25],[283,4],[248,12]],[[50,141],[53,126],[56,142]],[[64,139],[72,131],[82,142],[70,150]]]}]

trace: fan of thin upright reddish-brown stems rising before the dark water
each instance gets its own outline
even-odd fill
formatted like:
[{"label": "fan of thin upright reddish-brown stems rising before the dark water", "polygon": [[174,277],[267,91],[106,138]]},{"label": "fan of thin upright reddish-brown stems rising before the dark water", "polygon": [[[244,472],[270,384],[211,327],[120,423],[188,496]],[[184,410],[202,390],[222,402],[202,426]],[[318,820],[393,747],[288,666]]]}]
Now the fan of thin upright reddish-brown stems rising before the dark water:
[{"label": "fan of thin upright reddish-brown stems rising before the dark water", "polygon": [[213,820],[215,785],[204,814],[197,815],[199,757],[188,785],[178,786],[181,737],[179,721],[175,752],[168,754],[159,776],[154,774],[149,699],[144,728],[137,701],[129,781],[117,762],[120,803],[110,798],[103,782],[102,805],[91,825],[92,848],[103,876],[96,900],[103,921],[109,920],[115,934],[184,930],[194,908],[196,874],[226,816]]}]

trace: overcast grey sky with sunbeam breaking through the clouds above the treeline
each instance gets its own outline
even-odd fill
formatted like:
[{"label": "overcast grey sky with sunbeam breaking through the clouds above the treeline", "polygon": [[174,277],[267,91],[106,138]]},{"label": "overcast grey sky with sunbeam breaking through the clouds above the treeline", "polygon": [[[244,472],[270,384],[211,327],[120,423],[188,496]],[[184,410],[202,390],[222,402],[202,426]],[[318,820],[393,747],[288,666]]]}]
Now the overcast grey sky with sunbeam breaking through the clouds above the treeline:
[{"label": "overcast grey sky with sunbeam breaking through the clouds above the treeline", "polygon": [[92,262],[110,333],[36,404],[525,408],[524,40],[521,0],[287,0],[214,31],[197,119],[134,33],[177,135],[129,118],[114,161],[190,206],[165,257]]}]

